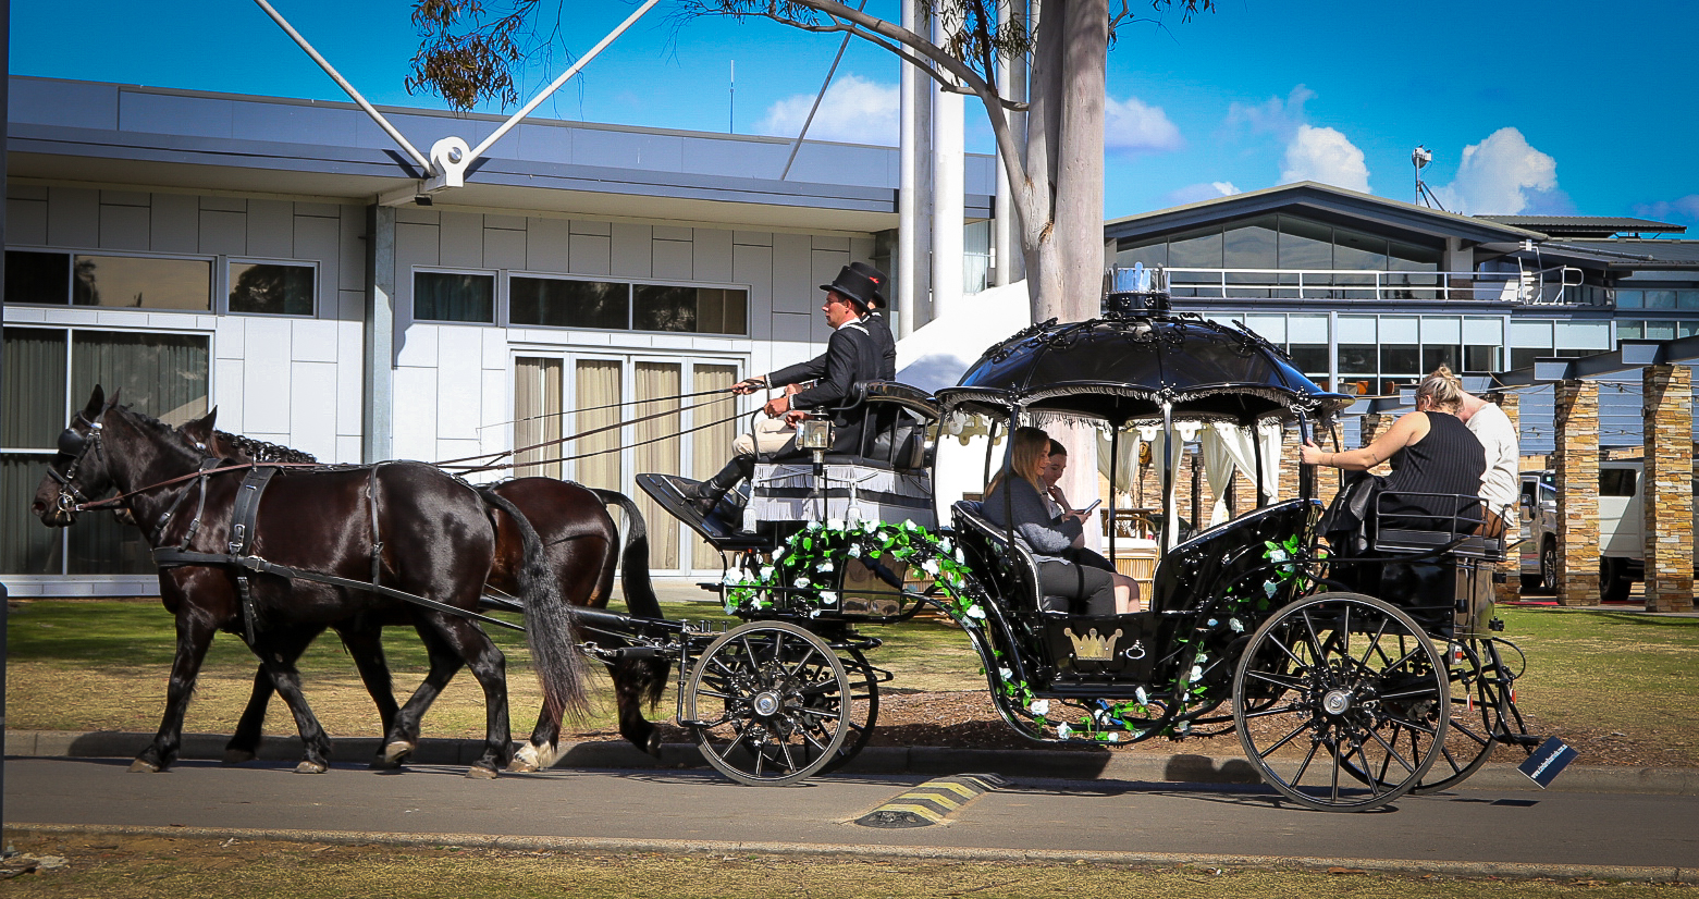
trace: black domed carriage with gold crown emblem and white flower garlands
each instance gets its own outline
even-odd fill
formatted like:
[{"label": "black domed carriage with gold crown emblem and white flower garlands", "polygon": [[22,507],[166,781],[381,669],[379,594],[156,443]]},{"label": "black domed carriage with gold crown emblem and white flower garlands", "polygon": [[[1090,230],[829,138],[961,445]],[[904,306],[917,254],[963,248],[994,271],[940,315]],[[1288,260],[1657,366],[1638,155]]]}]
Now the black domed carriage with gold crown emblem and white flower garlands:
[{"label": "black domed carriage with gold crown emblem and white flower garlands", "polygon": [[[1500,540],[1459,537],[1470,527],[1458,522],[1405,523],[1369,527],[1347,552],[1322,539],[1313,471],[1300,472],[1296,498],[1183,534],[1176,428],[1218,421],[1278,435],[1296,423],[1308,437],[1351,398],[1244,328],[1152,299],[1028,328],[936,398],[863,384],[875,427],[860,455],[758,466],[753,488],[707,517],[685,501],[688,481],[639,476],[727,557],[712,588],[744,620],[725,632],[646,625],[668,630],[652,651],[666,642],[683,656],[678,719],[715,768],[782,785],[851,758],[889,680],[866,656],[878,641],[858,625],[924,607],[962,625],[999,714],[1026,738],[1115,744],[1237,731],[1266,782],[1318,809],[1446,789],[1497,743],[1532,743],[1514,705],[1521,656],[1493,636],[1490,600],[1476,600]],[[1155,461],[1160,561],[1142,612],[1077,615],[1045,597],[1033,556],[977,501],[933,520],[941,435],[996,437],[1031,421],[1106,430],[1111,455],[1130,428],[1167,437]],[[1259,498],[1273,495],[1264,457],[1278,445],[1250,440]],[[1113,529],[1109,539],[1115,556]]]}]

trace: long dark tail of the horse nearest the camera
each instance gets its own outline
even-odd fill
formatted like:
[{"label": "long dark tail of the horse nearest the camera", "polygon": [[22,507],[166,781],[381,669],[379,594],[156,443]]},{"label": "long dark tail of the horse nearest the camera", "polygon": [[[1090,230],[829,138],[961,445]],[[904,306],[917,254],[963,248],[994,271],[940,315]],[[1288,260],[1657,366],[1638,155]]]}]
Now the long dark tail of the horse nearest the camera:
[{"label": "long dark tail of the horse nearest the camera", "polygon": [[584,664],[578,656],[578,617],[561,595],[561,585],[549,568],[549,554],[530,520],[491,488],[477,491],[486,503],[506,512],[518,527],[525,561],[518,571],[520,598],[525,603],[525,642],[542,681],[544,705],[557,717],[590,712],[584,688]]}]

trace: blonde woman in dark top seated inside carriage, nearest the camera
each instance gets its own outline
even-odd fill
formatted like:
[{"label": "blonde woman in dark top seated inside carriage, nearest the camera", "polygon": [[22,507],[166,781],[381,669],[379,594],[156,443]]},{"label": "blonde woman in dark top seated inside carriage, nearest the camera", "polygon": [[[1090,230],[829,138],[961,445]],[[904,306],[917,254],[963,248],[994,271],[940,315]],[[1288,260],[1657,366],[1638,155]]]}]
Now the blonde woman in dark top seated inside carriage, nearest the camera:
[{"label": "blonde woman in dark top seated inside carriage, nearest the camera", "polygon": [[1125,615],[1138,612],[1138,581],[1069,561],[1069,549],[1081,535],[1086,513],[1064,512],[1052,517],[1041,488],[1043,464],[1050,459],[1050,435],[1040,428],[1016,428],[1011,471],[991,483],[982,508],[985,520],[1009,527],[1013,510],[1014,539],[1026,544],[1038,563],[1040,591],[1067,597],[1072,612],[1082,615]]}]

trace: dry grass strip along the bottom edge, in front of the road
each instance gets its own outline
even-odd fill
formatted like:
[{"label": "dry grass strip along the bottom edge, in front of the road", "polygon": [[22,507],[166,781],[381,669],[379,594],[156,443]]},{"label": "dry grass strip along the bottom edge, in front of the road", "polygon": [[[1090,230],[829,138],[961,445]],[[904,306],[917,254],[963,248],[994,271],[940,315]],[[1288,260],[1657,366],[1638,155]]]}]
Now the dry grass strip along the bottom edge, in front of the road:
[{"label": "dry grass strip along the bottom edge, in front of the road", "polygon": [[912,899],[970,896],[1123,899],[1658,899],[1691,885],[1602,879],[1461,879],[1286,867],[1130,867],[914,858],[785,858],[749,853],[559,853],[455,846],[389,848],[313,843],[175,840],[134,834],[8,831],[20,851],[66,860],[56,870],[7,880],[19,897],[114,899],[418,899],[501,897],[809,897]]}]

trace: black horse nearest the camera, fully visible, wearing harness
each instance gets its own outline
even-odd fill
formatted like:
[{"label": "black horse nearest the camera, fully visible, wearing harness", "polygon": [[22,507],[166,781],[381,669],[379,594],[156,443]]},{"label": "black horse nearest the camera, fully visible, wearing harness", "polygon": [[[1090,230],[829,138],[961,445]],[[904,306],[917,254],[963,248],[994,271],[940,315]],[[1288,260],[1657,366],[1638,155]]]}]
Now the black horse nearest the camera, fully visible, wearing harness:
[{"label": "black horse nearest the camera, fully visible, wearing harness", "polygon": [[[61,433],[59,457],[42,478],[32,510],[42,523],[66,527],[90,498],[117,488],[151,546],[221,554],[231,542],[241,478],[233,472],[197,478],[202,459],[170,427],[117,406],[116,396],[107,403],[95,387],[88,404]],[[175,515],[187,508],[197,513]],[[353,581],[372,574],[375,557],[382,586],[474,612],[496,564],[496,510],[510,517],[523,546],[516,586],[545,707],[556,715],[583,712],[586,698],[571,610],[547,569],[542,539],[523,513],[500,496],[418,462],[392,462],[375,471],[284,469],[260,503],[250,552],[272,564]],[[472,668],[484,688],[484,753],[467,773],[494,777],[508,761],[505,659],[472,620],[369,590],[268,573],[250,578],[251,602],[245,603],[234,566],[183,564],[160,571],[161,600],[177,617],[177,659],[160,731],[131,770],[163,770],[175,760],[200,661],[212,636],[229,630],[253,634],[250,647],[296,717],[306,746],[297,770],[323,772],[330,739],[301,695],[294,659],[325,627],[362,619],[381,622],[399,612],[415,622],[433,659],[457,656],[454,668]],[[389,744],[413,739],[409,734],[418,732],[432,698],[435,690],[421,687],[394,712]]]}]

